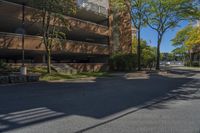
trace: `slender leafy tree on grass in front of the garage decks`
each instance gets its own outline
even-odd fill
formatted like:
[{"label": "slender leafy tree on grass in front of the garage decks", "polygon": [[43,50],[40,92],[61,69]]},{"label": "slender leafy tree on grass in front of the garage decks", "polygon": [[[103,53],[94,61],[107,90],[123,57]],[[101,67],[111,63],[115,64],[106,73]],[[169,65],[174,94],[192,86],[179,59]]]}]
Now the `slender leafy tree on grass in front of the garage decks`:
[{"label": "slender leafy tree on grass in front of the garage decks", "polygon": [[[51,73],[51,53],[56,45],[60,45],[62,39],[66,39],[69,28],[64,15],[75,13],[73,0],[32,0],[31,5],[37,7],[32,15],[32,20],[42,23],[43,43],[47,55],[47,72]],[[62,28],[61,28],[62,27]]]}]

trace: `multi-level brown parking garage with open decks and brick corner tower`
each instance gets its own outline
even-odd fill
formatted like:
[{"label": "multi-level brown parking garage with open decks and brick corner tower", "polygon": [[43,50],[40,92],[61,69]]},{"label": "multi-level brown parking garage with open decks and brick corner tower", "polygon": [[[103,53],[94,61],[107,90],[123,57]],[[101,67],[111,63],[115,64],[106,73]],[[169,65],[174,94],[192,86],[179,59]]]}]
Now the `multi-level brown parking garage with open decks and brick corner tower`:
[{"label": "multi-level brown parking garage with open decks and brick corner tower", "polygon": [[[25,62],[44,63],[45,47],[39,34],[41,24],[28,19],[37,10],[29,7],[28,0],[0,0],[0,59],[21,62],[22,2],[26,3]],[[104,64],[115,51],[131,51],[132,31],[128,13],[113,16],[108,0],[76,0],[76,4],[76,15],[66,16],[70,31],[64,49],[53,49],[53,62],[69,63],[78,68],[80,64]]]}]

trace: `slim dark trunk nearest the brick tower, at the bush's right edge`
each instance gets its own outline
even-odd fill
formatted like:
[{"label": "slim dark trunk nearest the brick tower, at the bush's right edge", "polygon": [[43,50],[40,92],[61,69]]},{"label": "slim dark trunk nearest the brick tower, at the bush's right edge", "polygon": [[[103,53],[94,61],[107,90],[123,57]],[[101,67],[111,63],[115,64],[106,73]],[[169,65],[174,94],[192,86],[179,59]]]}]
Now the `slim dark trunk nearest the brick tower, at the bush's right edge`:
[{"label": "slim dark trunk nearest the brick tower, at the bush's right edge", "polygon": [[140,28],[138,28],[137,63],[138,63],[138,71],[140,71],[141,70],[141,39],[140,39]]}]

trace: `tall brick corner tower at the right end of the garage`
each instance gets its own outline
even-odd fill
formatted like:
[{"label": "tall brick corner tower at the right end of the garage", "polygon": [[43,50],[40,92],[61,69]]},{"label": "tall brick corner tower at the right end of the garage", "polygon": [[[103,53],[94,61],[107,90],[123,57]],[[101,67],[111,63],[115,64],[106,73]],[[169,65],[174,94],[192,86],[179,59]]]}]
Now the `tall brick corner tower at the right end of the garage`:
[{"label": "tall brick corner tower at the right end of the garage", "polygon": [[132,24],[130,13],[110,8],[109,20],[111,52],[131,53]]}]

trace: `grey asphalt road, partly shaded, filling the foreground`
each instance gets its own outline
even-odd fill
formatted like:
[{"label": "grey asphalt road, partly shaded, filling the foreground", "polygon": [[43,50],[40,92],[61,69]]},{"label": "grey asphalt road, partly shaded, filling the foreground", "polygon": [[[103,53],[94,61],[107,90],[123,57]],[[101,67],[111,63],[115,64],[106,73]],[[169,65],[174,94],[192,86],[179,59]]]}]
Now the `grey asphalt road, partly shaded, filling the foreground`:
[{"label": "grey asphalt road, partly shaded, filling the foreground", "polygon": [[200,133],[200,73],[1,85],[0,132]]}]

